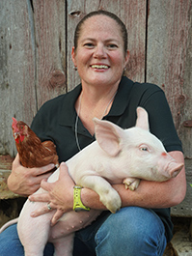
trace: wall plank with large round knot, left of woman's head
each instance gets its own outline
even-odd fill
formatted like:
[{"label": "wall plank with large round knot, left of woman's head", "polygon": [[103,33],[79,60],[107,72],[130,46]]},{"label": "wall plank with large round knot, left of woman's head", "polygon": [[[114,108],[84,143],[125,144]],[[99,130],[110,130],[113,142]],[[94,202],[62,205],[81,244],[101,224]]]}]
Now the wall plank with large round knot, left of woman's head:
[{"label": "wall plank with large round knot, left of woman's head", "polygon": [[66,92],[66,1],[33,1],[33,18],[39,109]]}]

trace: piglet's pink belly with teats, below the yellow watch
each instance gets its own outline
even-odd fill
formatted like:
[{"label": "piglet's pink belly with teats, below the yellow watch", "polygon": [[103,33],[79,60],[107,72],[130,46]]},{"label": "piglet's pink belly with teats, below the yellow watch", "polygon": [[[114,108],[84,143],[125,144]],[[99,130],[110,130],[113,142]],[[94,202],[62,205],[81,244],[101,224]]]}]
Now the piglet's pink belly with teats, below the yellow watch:
[{"label": "piglet's pink belly with teats, below the yellow watch", "polygon": [[69,212],[65,213],[53,227],[50,228],[49,242],[60,239],[64,236],[85,228],[90,225],[101,211],[91,210],[90,212]]}]

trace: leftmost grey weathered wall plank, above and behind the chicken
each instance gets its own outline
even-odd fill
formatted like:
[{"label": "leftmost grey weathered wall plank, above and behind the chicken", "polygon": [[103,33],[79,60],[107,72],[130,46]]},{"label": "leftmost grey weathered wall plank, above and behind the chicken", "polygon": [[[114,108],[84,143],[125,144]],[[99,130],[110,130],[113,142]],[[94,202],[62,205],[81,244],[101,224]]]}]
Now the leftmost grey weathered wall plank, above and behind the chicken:
[{"label": "leftmost grey weathered wall plank, above and behind the chicken", "polygon": [[36,108],[34,51],[25,0],[0,8],[0,155],[15,155],[12,117],[31,123]]}]

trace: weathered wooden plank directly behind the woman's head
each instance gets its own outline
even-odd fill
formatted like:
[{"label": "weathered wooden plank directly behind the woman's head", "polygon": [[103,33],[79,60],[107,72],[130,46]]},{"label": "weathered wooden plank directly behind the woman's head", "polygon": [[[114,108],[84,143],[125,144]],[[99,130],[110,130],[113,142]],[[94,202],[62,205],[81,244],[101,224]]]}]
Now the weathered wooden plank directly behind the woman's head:
[{"label": "weathered wooden plank directly behind the woman's head", "polygon": [[76,24],[92,11],[103,9],[122,18],[128,30],[128,49],[130,61],[126,74],[133,80],[144,81],[145,78],[145,43],[146,43],[146,1],[135,0],[103,0],[68,2],[68,85],[69,90],[79,82],[77,71],[73,70],[70,52],[73,46],[73,34]]}]

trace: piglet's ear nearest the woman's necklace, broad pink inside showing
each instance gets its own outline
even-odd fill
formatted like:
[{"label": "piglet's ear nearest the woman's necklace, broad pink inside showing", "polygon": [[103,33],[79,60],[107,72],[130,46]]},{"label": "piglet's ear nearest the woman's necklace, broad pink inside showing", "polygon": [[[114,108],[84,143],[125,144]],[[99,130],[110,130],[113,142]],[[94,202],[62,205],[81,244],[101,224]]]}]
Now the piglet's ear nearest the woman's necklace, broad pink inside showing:
[{"label": "piglet's ear nearest the woman's necklace, broad pink inside showing", "polygon": [[123,129],[111,122],[94,118],[96,141],[109,156],[117,156],[121,151]]}]

